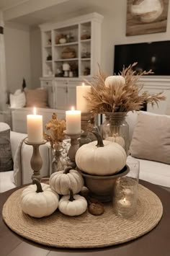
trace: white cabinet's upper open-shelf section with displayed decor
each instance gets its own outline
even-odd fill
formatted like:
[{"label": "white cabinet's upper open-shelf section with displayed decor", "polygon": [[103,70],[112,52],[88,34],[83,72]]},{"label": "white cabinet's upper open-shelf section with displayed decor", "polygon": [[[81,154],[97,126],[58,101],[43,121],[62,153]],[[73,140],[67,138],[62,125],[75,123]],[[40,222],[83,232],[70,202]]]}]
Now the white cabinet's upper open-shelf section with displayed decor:
[{"label": "white cabinet's upper open-shelf section with displayed decor", "polygon": [[94,12],[64,22],[40,25],[42,76],[94,75],[100,63],[102,19],[101,14]]}]

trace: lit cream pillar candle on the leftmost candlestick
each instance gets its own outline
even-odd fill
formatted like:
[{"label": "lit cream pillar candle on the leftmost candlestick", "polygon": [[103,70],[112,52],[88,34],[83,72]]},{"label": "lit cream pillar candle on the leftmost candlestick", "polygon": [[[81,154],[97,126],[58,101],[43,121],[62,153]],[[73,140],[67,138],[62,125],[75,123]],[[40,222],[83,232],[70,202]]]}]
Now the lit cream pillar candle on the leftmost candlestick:
[{"label": "lit cream pillar candle on the leftmost candlestick", "polygon": [[34,107],[34,114],[27,115],[27,135],[30,143],[39,143],[43,141],[42,136],[42,115],[36,115]]}]

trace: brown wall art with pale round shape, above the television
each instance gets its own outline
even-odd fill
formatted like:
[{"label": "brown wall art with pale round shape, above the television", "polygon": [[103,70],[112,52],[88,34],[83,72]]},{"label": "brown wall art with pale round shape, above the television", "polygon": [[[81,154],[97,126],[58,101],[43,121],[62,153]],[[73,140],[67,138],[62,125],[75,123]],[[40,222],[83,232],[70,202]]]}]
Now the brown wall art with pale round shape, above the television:
[{"label": "brown wall art with pale round shape, above the television", "polygon": [[128,0],[126,35],[166,32],[169,0]]}]

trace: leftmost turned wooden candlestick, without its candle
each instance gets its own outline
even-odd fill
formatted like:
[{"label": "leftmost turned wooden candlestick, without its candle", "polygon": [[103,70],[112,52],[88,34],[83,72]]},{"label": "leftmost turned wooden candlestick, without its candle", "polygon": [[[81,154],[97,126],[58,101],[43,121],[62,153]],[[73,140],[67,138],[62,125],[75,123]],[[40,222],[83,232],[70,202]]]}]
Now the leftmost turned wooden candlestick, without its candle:
[{"label": "leftmost turned wooden candlestick, without its candle", "polygon": [[45,144],[47,141],[43,140],[41,142],[37,142],[37,143],[32,143],[30,141],[27,140],[27,138],[25,138],[24,143],[27,145],[30,145],[33,147],[33,152],[32,152],[32,157],[30,160],[30,164],[31,164],[31,168],[33,170],[33,174],[32,174],[32,180],[33,179],[37,179],[37,180],[41,180],[41,175],[40,175],[40,169],[42,167],[42,157],[40,156],[40,151],[39,151],[39,147],[43,144]]}]

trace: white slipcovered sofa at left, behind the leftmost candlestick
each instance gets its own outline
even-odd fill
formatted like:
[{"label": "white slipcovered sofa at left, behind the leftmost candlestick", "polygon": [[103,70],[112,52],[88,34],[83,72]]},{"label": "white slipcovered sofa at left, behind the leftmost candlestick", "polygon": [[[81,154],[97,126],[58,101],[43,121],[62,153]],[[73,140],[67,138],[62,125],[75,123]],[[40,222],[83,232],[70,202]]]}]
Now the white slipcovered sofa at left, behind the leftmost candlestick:
[{"label": "white slipcovered sofa at left, behind the leftmost candlestick", "polygon": [[[0,131],[9,129],[6,123],[0,123]],[[32,182],[32,169],[30,159],[32,157],[32,146],[24,144],[23,140],[27,134],[10,132],[12,146],[12,159],[14,161],[14,170],[9,172],[0,172],[0,193],[17,187],[19,185]],[[45,144],[40,146],[40,155],[42,156],[42,168],[40,173],[42,177],[49,175],[50,170],[50,146]]]}]

